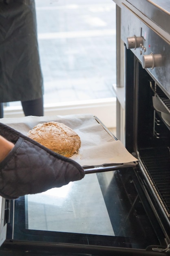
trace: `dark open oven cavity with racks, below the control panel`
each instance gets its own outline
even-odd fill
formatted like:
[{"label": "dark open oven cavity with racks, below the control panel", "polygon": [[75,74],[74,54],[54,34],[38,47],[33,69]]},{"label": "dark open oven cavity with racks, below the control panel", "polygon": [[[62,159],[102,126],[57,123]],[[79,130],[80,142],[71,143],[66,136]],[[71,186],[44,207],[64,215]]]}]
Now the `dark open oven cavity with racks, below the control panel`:
[{"label": "dark open oven cavity with racks, below the control panel", "polygon": [[170,99],[130,50],[126,56],[126,148],[139,158],[141,183],[169,240]]}]

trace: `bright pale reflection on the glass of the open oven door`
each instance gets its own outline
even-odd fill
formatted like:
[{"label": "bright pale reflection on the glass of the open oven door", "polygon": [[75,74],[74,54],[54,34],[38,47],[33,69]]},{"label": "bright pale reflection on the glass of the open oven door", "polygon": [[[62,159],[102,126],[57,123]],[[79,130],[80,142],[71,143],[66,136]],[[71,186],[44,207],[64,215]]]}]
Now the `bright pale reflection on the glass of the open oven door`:
[{"label": "bright pale reflection on the glass of the open oven door", "polygon": [[114,236],[97,175],[28,195],[28,229]]}]

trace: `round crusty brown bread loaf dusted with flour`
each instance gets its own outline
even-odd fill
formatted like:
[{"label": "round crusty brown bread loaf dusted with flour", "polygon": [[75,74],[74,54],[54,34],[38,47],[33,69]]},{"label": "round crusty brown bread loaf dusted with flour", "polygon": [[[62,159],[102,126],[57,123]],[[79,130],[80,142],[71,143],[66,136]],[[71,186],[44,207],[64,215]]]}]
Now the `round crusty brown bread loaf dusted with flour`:
[{"label": "round crusty brown bread loaf dusted with flour", "polygon": [[80,137],[74,130],[54,121],[38,124],[27,136],[65,157],[76,153],[81,146]]}]

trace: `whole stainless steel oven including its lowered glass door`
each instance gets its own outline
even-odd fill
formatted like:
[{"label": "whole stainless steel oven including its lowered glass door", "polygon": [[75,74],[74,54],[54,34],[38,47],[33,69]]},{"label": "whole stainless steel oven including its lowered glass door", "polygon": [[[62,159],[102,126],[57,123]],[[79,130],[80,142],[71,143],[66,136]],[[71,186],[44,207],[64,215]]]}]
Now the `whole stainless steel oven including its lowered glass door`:
[{"label": "whole stainless steel oven including its lowered glass door", "polygon": [[139,161],[84,166],[61,189],[0,198],[0,255],[170,254],[170,44],[133,11],[138,2],[122,4],[121,38],[125,146]]}]

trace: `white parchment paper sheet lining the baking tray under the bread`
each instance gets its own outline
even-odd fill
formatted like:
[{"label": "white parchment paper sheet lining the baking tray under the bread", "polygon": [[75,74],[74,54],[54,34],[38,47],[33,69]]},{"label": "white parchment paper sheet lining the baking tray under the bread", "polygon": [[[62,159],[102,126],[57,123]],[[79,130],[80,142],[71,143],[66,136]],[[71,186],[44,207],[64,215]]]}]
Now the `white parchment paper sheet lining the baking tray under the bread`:
[{"label": "white parchment paper sheet lining the baking tray under the bread", "polygon": [[120,164],[137,161],[119,140],[115,140],[93,115],[3,118],[1,123],[26,135],[35,125],[48,121],[66,124],[81,139],[81,148],[70,158],[82,166]]}]

